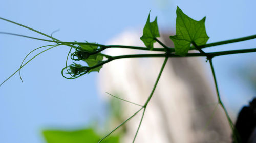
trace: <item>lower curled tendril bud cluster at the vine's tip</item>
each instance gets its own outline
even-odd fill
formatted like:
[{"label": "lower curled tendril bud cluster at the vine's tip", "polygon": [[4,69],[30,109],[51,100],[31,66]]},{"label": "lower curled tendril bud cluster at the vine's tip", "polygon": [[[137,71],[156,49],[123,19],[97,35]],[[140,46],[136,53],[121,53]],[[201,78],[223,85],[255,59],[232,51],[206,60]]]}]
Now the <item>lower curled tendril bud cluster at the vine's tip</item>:
[{"label": "lower curled tendril bud cluster at the vine's tip", "polygon": [[[68,71],[68,73],[66,73],[66,74],[71,75],[71,77],[66,77],[64,75],[64,70],[65,69],[67,69],[67,71]],[[80,77],[80,76],[88,73],[89,70],[90,70],[90,68],[87,67],[87,66],[82,66],[80,64],[74,63],[74,64],[71,64],[70,66],[67,66],[67,67],[63,68],[62,71],[61,71],[61,74],[62,74],[63,77],[65,77],[67,79],[75,79],[77,77]]]}]

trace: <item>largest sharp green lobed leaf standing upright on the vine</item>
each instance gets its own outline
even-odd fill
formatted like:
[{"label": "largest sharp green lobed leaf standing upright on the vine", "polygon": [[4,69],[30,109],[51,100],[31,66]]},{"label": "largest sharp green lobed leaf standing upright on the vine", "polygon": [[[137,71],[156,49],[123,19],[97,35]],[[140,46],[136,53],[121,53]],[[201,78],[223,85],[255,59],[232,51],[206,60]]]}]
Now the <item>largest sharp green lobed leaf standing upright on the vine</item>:
[{"label": "largest sharp green lobed leaf standing upright on the vine", "polygon": [[170,36],[174,42],[175,54],[185,56],[192,42],[205,45],[209,39],[205,30],[205,17],[196,21],[184,14],[179,7],[176,10],[176,35]]}]

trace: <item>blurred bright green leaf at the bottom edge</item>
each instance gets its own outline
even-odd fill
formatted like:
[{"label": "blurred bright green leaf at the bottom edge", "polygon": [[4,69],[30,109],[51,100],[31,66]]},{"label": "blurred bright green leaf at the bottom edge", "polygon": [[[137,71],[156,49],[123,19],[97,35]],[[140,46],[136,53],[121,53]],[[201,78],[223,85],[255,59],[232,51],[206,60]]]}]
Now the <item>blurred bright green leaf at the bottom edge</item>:
[{"label": "blurred bright green leaf at the bottom edge", "polygon": [[[47,143],[94,143],[102,138],[102,136],[90,128],[76,131],[46,130],[43,132],[43,135]],[[118,143],[119,137],[109,136],[102,142]]]}]

